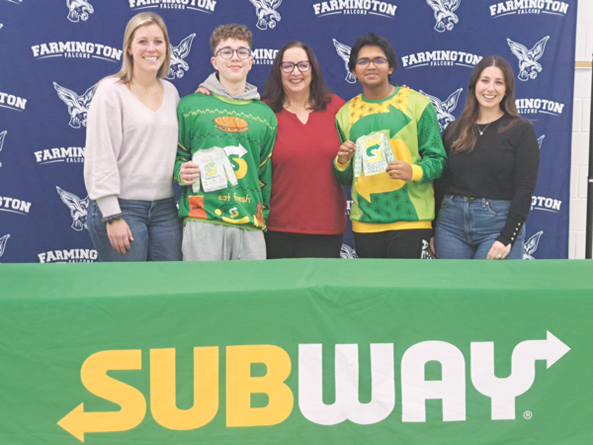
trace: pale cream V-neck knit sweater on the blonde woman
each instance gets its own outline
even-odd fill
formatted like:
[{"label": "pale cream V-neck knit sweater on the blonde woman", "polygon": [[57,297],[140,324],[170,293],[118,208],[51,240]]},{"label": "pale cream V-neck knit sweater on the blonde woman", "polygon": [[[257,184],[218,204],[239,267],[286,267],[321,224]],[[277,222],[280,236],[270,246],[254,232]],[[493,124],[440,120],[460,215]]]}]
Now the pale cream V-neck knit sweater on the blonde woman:
[{"label": "pale cream V-neck knit sweater on the blonde woman", "polygon": [[120,212],[117,198],[156,201],[173,196],[179,94],[161,80],[153,112],[114,78],[101,82],[87,116],[84,182],[103,217]]}]

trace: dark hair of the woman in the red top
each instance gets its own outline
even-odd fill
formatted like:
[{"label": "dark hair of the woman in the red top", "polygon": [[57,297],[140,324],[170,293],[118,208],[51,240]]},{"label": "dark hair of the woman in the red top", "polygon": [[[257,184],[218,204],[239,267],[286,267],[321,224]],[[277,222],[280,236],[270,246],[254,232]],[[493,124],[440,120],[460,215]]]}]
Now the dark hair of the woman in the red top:
[{"label": "dark hair of the woman in the red top", "polygon": [[292,42],[286,43],[276,54],[274,63],[272,64],[272,71],[267,78],[266,85],[264,85],[264,93],[262,99],[266,100],[270,108],[275,112],[279,113],[284,107],[286,101],[286,93],[282,86],[282,58],[286,50],[291,48],[301,48],[307,53],[309,63],[311,63],[311,85],[309,85],[309,101],[308,109],[311,111],[325,110],[327,103],[331,99],[331,91],[327,88],[326,82],[323,80],[323,74],[321,74],[321,67],[315,53],[310,46],[305,43],[298,42],[298,40],[292,40]]}]

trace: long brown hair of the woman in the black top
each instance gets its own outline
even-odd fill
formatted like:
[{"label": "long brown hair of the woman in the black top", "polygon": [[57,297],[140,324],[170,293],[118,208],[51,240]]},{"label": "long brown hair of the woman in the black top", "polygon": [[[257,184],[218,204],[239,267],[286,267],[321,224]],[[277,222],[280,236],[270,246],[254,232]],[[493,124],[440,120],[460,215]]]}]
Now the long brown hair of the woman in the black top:
[{"label": "long brown hair of the woman in the black top", "polygon": [[[500,101],[500,109],[512,117],[521,119],[517,112],[515,105],[515,75],[511,65],[500,56],[484,57],[480,63],[476,65],[474,71],[471,73],[470,85],[467,87],[466,106],[463,108],[463,113],[459,119],[454,120],[449,124],[451,126],[449,138],[452,142],[451,150],[456,153],[464,151],[470,152],[478,139],[478,128],[476,121],[478,119],[479,103],[476,98],[476,83],[482,75],[484,69],[490,66],[500,68],[505,78],[505,97]],[[517,119],[512,119],[509,125],[500,128],[499,131],[506,131],[510,126],[514,125]]]}]

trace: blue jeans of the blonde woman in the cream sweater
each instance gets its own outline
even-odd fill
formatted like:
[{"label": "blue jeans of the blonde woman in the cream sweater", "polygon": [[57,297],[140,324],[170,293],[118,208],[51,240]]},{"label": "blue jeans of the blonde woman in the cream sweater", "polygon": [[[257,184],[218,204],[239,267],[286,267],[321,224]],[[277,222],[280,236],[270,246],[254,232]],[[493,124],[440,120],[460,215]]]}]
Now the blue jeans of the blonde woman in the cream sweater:
[{"label": "blue jeans of the blonde woman in the cream sweater", "polygon": [[91,200],[88,204],[88,231],[99,261],[181,261],[181,220],[174,198],[118,201],[134,238],[125,255],[111,246],[97,202]]}]

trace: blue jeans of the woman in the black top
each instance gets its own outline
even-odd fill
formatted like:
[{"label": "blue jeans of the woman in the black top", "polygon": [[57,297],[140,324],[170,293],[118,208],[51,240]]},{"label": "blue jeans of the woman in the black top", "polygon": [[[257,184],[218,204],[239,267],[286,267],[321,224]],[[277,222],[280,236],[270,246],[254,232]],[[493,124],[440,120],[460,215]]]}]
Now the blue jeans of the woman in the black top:
[{"label": "blue jeans of the woman in the black top", "polygon": [[[436,220],[439,259],[486,259],[506,224],[511,201],[445,195]],[[525,225],[506,259],[523,259]]]}]

